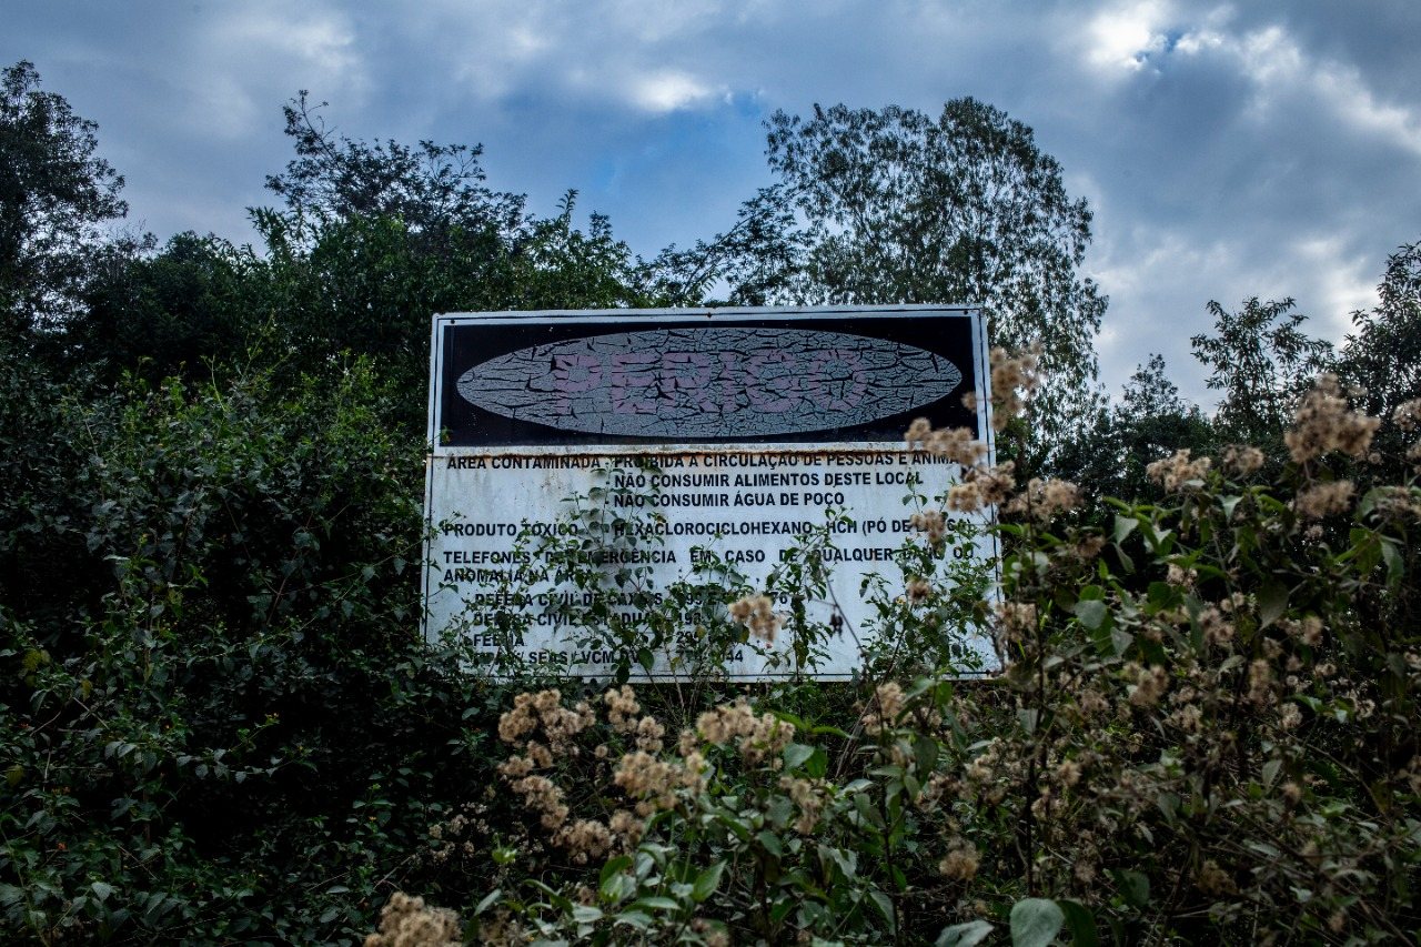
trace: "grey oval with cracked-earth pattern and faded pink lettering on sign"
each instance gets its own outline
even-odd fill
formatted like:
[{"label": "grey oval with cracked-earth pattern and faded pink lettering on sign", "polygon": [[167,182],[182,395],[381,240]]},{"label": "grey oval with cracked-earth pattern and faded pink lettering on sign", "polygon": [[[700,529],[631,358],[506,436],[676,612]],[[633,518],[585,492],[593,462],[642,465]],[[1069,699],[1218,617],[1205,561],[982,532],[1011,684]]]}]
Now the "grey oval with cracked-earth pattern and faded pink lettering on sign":
[{"label": "grey oval with cracked-earth pattern and faded pink lettering on sign", "polygon": [[935,353],[803,328],[666,328],[520,348],[459,377],[485,411],[637,438],[766,438],[854,427],[944,398],[962,371]]}]

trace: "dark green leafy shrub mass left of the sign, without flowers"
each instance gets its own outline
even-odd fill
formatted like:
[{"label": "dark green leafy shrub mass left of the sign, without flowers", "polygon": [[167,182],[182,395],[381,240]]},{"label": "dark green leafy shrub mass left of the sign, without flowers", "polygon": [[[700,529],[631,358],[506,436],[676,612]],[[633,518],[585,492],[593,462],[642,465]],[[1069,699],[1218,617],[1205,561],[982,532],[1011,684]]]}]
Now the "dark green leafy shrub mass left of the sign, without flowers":
[{"label": "dark green leafy shrub mass left of the sign, without flowers", "polygon": [[0,929],[352,937],[425,825],[392,799],[469,705],[414,631],[418,445],[362,363],[6,381]]}]

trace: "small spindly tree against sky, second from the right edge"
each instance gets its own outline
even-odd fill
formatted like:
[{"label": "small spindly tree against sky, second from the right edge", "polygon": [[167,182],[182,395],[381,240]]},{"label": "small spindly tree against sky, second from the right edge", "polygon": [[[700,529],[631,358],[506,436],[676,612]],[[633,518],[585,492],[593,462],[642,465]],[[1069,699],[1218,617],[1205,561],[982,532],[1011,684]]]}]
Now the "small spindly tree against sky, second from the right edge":
[{"label": "small spindly tree against sky, second from the right edge", "polygon": [[1209,301],[1214,334],[1189,340],[1194,357],[1212,368],[1208,387],[1223,392],[1214,422],[1221,437],[1259,446],[1277,445],[1293,405],[1323,371],[1331,346],[1299,326],[1307,317],[1293,300],[1243,300],[1236,313]]}]

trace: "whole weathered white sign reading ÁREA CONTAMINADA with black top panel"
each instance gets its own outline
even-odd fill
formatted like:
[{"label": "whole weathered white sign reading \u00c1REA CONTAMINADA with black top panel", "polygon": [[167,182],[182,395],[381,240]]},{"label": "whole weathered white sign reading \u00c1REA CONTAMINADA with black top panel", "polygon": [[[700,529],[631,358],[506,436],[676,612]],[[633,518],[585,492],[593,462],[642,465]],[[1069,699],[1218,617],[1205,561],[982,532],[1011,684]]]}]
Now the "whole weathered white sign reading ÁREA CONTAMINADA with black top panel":
[{"label": "whole weathered white sign reading \u00c1REA CONTAMINADA with black top panel", "polygon": [[[980,311],[965,307],[436,316],[426,634],[603,674],[621,656],[576,627],[570,604],[590,594],[588,573],[568,570],[577,549],[632,623],[706,562],[763,587],[817,535],[833,587],[806,616],[845,633],[816,674],[848,677],[872,624],[864,579],[902,582],[905,495],[955,474],[907,451],[904,431],[925,417],[990,442],[986,378]],[[955,552],[986,560],[995,547]],[[796,671],[774,648],[728,661],[730,677]],[[665,648],[638,670],[679,673]]]}]

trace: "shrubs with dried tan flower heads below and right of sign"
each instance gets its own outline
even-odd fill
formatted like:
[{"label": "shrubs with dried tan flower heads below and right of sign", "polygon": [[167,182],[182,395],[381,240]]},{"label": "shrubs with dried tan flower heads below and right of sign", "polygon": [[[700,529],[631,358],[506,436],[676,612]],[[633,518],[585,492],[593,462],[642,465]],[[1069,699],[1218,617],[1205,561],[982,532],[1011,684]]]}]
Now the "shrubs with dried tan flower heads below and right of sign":
[{"label": "shrubs with dried tan flower heads below and right of sign", "polygon": [[1320,505],[1341,469],[1175,458],[1162,501],[1111,502],[1103,530],[1000,525],[990,683],[867,680],[820,715],[801,687],[571,704],[530,683],[499,728],[513,822],[490,802],[449,826],[500,865],[470,884],[475,936],[1414,937],[1421,641],[1394,592],[1421,492]]}]

